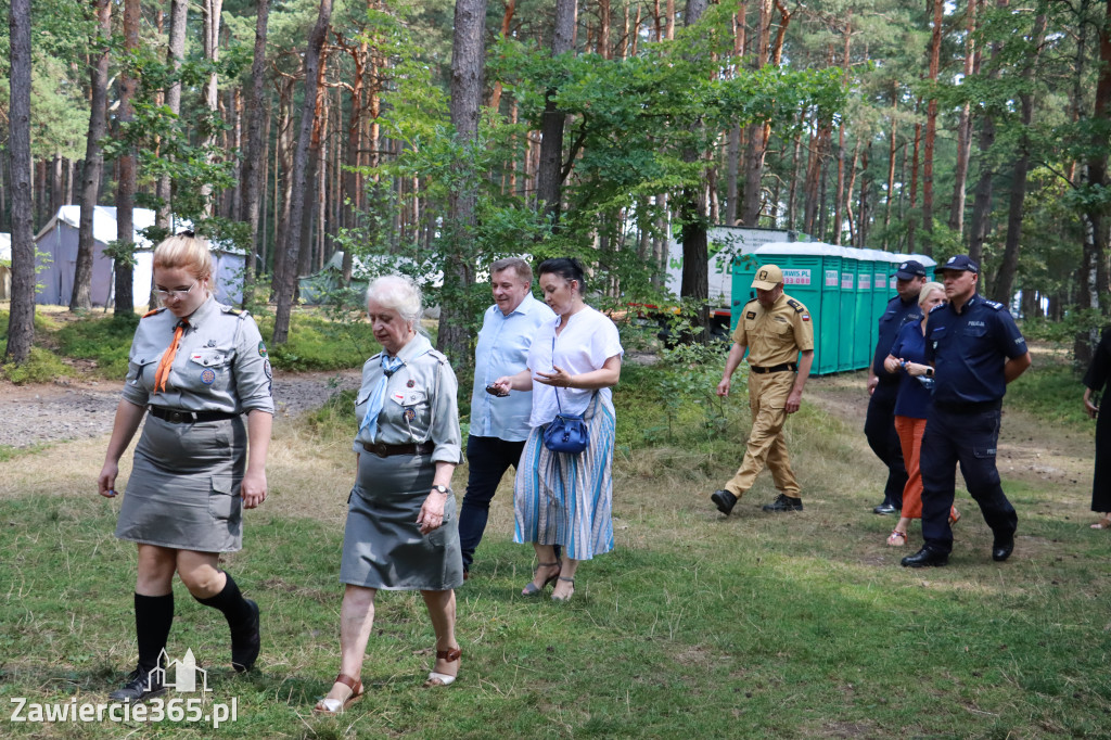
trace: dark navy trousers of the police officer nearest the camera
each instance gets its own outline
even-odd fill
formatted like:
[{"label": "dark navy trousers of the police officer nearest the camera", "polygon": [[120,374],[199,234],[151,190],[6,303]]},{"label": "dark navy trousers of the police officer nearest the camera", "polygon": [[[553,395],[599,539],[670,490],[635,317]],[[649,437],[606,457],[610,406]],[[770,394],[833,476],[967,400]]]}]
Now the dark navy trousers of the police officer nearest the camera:
[{"label": "dark navy trousers of the police officer nearest the camera", "polygon": [[953,530],[949,508],[953,504],[957,466],[969,493],[995,536],[1004,541],[1014,536],[1019,516],[1003,494],[995,468],[999,442],[999,407],[972,412],[930,409],[922,436],[922,538],[931,550],[949,553]]}]

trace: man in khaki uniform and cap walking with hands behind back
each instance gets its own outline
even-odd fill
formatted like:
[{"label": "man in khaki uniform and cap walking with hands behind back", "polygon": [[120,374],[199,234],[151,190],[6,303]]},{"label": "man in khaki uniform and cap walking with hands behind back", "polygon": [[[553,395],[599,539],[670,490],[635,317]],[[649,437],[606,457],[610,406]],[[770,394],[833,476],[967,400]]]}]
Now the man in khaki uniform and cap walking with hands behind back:
[{"label": "man in khaki uniform and cap walking with hands behind back", "polygon": [[[749,408],[752,431],[749,433],[744,462],[725,488],[710,500],[727,517],[737,500],[752,488],[764,463],[780,494],[764,506],[764,511],[802,511],[799,483],[783,441],[787,414],[799,410],[802,388],[814,359],[814,326],[807,307],[783,292],[783,271],[774,264],[757,270],[752,281],[755,299],[744,304],[744,313],[733,330],[733,346],[725,360],[725,372],[718,383],[718,396],[729,396],[733,371],[749,350]],[[802,353],[801,359],[799,353]]]}]

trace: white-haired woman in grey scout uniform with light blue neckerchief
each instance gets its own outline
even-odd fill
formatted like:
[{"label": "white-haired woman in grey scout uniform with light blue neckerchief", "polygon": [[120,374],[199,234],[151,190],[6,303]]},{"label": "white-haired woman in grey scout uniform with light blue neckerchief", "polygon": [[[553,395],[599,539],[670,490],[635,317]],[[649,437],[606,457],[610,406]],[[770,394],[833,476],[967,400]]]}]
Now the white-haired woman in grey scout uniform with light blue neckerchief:
[{"label": "white-haired woman in grey scout uniform with light blue neckerchief", "polygon": [[367,290],[367,314],[382,351],[362,368],[356,397],[358,476],[348,499],[340,581],[340,672],[313,711],[337,714],[362,696],[362,659],[374,596],[418,589],[436,631],[426,686],[459,672],[456,589],[463,583],[451,473],[461,459],[456,373],[417,331],[420,289],[386,276]]}]

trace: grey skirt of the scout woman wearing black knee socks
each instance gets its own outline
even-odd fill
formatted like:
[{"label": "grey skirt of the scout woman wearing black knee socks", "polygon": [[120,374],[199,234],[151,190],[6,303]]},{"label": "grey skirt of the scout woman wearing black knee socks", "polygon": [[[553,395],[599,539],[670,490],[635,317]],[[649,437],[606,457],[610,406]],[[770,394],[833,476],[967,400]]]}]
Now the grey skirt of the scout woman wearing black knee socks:
[{"label": "grey skirt of the scout woman wearing black knee socks", "polygon": [[179,424],[147,414],[116,537],[197,552],[241,549],[246,461],[242,417]]}]

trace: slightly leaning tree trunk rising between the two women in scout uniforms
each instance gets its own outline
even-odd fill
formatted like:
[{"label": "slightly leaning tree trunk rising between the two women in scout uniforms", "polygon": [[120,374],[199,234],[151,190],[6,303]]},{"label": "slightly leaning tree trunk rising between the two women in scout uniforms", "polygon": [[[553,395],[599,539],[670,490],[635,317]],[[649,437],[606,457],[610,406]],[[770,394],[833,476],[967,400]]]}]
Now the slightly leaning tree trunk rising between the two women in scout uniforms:
[{"label": "slightly leaning tree trunk rising between the two women in scout uniforms", "polygon": [[320,57],[328,37],[332,18],[332,0],[320,0],[317,23],[309,34],[304,53],[304,101],[301,107],[301,123],[297,137],[297,153],[293,156],[292,191],[290,193],[289,243],[286,247],[284,267],[278,288],[274,311],[273,343],[283,344],[289,339],[289,322],[293,311],[293,292],[297,288],[297,262],[301,251],[301,227],[304,223],[304,194],[309,190],[309,143],[312,138],[312,122],[317,110],[317,84],[319,83]]}]

